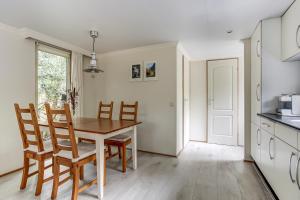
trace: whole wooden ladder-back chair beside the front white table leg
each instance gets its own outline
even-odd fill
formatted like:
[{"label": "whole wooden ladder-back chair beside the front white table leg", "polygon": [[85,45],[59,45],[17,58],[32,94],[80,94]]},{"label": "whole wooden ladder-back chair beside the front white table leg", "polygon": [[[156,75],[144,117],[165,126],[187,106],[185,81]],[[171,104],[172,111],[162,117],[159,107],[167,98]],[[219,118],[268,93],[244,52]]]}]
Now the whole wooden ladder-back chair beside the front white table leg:
[{"label": "whole wooden ladder-back chair beside the front white table leg", "polygon": [[[83,177],[80,177],[80,174],[83,172],[84,165],[96,160],[96,147],[95,144],[91,143],[76,143],[69,104],[65,104],[64,109],[62,110],[51,109],[50,105],[47,103],[45,104],[45,107],[54,149],[54,179],[51,198],[55,199],[57,196],[58,186],[65,183],[72,177],[72,199],[74,200],[77,199],[80,192],[97,183],[97,179],[94,179],[82,187],[79,187],[79,179],[83,179]],[[53,115],[62,115],[66,118],[66,120],[57,121],[53,119]],[[65,133],[61,133],[63,131],[60,130],[60,132],[58,132],[57,129],[59,128],[66,128],[67,131]],[[66,166],[71,170],[71,176],[63,179],[62,181],[59,180],[61,165]],[[104,181],[105,177],[106,170],[104,170]]]}]

